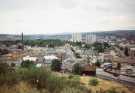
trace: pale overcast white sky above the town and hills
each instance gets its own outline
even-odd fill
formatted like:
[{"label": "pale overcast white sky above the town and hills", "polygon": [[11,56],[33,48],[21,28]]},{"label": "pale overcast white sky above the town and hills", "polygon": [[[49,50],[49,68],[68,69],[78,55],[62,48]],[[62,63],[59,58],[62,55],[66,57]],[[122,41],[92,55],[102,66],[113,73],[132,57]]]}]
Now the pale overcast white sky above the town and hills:
[{"label": "pale overcast white sky above the town and hills", "polygon": [[1,34],[135,29],[135,0],[0,0]]}]

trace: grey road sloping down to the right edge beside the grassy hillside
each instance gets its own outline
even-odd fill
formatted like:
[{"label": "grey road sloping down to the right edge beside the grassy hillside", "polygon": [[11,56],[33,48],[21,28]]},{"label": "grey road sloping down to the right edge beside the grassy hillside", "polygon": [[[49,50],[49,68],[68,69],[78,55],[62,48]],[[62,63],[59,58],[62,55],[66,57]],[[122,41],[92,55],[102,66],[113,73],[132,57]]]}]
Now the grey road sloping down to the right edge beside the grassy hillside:
[{"label": "grey road sloping down to the right edge beside the grassy hillside", "polygon": [[123,76],[123,75],[120,75],[119,77],[115,77],[112,74],[105,72],[103,69],[97,69],[96,74],[97,77],[99,78],[106,79],[106,80],[113,80],[123,85],[126,85],[128,87],[135,88],[135,78]]}]

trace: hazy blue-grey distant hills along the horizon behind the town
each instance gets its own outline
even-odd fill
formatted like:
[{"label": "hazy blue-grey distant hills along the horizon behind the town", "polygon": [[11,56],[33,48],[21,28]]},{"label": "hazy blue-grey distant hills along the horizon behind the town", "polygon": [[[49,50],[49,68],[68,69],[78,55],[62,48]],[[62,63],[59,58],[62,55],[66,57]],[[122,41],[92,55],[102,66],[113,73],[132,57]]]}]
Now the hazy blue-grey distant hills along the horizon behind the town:
[{"label": "hazy blue-grey distant hills along the horizon behind the town", "polygon": [[[116,31],[105,31],[105,32],[86,32],[86,33],[95,33],[97,36],[110,36],[114,35],[117,37],[124,37],[128,40],[135,40],[135,30],[116,30]],[[83,32],[82,34],[86,34]],[[41,35],[41,34],[33,34],[33,35],[25,35],[25,40],[34,40],[34,39],[60,39],[60,40],[70,40],[72,37],[72,33],[62,33],[57,35]],[[20,35],[9,35],[9,34],[0,34],[0,41],[12,41],[12,40],[21,40]]]}]

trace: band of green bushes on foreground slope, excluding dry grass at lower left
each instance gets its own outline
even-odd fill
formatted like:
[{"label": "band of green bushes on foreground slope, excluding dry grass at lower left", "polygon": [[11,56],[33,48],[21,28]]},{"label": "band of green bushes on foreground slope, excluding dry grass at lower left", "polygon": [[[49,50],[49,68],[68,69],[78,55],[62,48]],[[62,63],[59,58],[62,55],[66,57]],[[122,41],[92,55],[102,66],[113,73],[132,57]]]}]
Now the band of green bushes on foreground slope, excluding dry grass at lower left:
[{"label": "band of green bushes on foreground slope, excluding dry grass at lower left", "polygon": [[[0,75],[0,85],[12,86],[20,82],[26,82],[41,93],[90,93],[80,84],[80,77],[74,75],[71,78],[59,77],[44,68],[19,68],[16,72]],[[45,91],[42,91],[45,90]],[[71,92],[70,92],[71,90]]]}]

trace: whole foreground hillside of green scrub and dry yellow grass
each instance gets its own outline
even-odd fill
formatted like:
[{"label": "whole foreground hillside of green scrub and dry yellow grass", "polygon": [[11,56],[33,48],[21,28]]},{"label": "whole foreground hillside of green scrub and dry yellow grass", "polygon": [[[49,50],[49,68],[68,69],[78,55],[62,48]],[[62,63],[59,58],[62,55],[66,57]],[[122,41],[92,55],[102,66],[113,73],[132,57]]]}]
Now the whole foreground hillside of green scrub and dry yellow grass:
[{"label": "whole foreground hillside of green scrub and dry yellow grass", "polygon": [[22,63],[16,70],[0,64],[0,93],[130,93],[114,82],[52,72],[28,64]]}]

